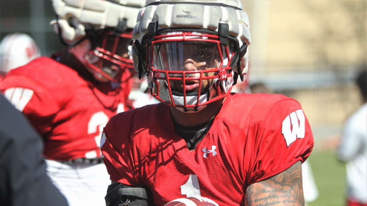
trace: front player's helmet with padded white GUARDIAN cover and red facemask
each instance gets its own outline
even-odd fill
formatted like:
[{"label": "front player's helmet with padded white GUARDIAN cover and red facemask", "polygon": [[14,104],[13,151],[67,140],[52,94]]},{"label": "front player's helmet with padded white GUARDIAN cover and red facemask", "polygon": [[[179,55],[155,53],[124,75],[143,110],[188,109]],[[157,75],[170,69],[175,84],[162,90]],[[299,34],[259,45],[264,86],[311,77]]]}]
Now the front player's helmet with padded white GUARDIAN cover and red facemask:
[{"label": "front player's helmet with padded white GUARDIAN cover and red facemask", "polygon": [[248,67],[249,19],[239,0],[147,0],[133,60],[151,95],[184,112],[224,98]]}]

